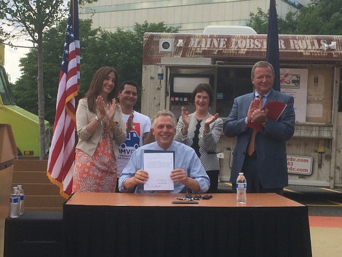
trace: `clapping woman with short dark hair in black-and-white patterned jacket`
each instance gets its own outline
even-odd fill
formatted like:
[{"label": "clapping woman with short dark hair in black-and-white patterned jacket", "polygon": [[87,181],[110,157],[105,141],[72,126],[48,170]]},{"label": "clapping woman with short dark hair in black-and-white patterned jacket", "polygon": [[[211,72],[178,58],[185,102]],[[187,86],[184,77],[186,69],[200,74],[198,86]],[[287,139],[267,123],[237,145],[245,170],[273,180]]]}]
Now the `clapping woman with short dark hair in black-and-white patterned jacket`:
[{"label": "clapping woman with short dark hair in black-and-white patterned jacket", "polygon": [[175,140],[192,147],[200,158],[210,178],[208,193],[215,193],[218,185],[219,161],[216,145],[222,133],[223,121],[218,113],[211,115],[209,106],[213,102],[214,92],[209,84],[202,83],[192,92],[196,111],[189,114],[184,106],[177,124]]}]

